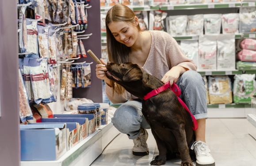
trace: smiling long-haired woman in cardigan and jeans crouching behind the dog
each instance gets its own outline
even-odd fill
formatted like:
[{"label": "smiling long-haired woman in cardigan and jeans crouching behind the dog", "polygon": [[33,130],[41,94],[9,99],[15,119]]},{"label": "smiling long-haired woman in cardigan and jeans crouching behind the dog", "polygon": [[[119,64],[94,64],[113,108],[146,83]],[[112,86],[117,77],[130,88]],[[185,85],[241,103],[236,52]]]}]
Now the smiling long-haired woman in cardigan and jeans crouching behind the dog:
[{"label": "smiling long-haired woman in cardigan and jeans crouching behind the dog", "polygon": [[[186,103],[198,122],[195,131],[197,163],[214,166],[214,159],[205,140],[207,116],[206,89],[204,80],[196,72],[195,63],[187,58],[177,42],[166,32],[141,32],[138,18],[134,12],[121,4],[112,7],[106,16],[107,52],[109,60],[115,63],[132,62],[141,66],[145,72],[159,78],[164,83],[170,81],[180,87],[180,98]],[[141,101],[114,84],[105,76],[106,64],[96,65],[96,75],[106,82],[106,93],[112,103],[123,103],[112,118],[114,126],[134,140],[134,155],[147,155],[146,140],[150,129],[141,113]],[[178,80],[179,78],[179,80]],[[129,100],[129,101],[127,101]]]}]

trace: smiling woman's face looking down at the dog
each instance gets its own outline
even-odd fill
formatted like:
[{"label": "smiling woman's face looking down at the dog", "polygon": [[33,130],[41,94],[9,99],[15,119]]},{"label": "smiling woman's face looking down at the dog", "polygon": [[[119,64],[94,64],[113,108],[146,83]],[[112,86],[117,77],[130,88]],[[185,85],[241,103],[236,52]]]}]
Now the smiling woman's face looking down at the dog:
[{"label": "smiling woman's face looking down at the dog", "polygon": [[[134,23],[138,26],[138,18],[135,17]],[[133,26],[125,21],[111,22],[109,24],[109,30],[112,35],[114,35],[115,40],[125,44],[127,47],[134,45],[135,41],[138,38],[139,31],[136,26]]]}]

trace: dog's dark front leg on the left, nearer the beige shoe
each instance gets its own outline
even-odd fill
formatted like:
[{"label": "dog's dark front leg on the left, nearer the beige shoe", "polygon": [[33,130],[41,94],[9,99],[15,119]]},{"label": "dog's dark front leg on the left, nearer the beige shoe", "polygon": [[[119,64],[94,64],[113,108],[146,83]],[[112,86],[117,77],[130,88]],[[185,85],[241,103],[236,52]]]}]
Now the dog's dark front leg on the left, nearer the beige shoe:
[{"label": "dog's dark front leg on the left, nearer the beige shoe", "polygon": [[150,164],[153,165],[153,166],[164,165],[165,161],[166,161],[167,149],[165,147],[164,142],[162,140],[160,140],[160,138],[157,136],[157,133],[154,131],[153,128],[151,128],[151,131],[152,131],[153,136],[154,136],[154,138],[157,142],[157,148],[158,148],[158,151],[159,151],[159,156],[158,156],[157,159],[150,162]]}]

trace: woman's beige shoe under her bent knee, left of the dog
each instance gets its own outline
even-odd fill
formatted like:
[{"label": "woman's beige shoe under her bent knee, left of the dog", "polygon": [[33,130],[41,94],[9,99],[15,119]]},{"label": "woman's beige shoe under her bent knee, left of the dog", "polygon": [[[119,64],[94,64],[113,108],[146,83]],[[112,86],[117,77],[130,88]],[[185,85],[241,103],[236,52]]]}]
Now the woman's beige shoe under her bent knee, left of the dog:
[{"label": "woman's beige shoe under her bent knee, left of the dog", "polygon": [[148,132],[146,129],[141,129],[141,134],[138,138],[134,139],[133,155],[148,155],[149,148],[146,143],[148,139]]}]

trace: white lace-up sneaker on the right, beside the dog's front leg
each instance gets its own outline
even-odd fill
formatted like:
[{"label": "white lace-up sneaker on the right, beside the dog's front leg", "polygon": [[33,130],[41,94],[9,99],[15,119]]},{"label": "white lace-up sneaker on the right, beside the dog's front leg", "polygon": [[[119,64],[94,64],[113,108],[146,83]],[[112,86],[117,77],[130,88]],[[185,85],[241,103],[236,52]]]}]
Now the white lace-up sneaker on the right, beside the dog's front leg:
[{"label": "white lace-up sneaker on the right, beside the dog's front leg", "polygon": [[205,142],[195,141],[191,149],[195,149],[196,166],[215,166],[214,158],[210,155],[210,149]]}]

